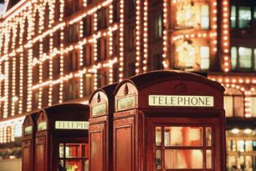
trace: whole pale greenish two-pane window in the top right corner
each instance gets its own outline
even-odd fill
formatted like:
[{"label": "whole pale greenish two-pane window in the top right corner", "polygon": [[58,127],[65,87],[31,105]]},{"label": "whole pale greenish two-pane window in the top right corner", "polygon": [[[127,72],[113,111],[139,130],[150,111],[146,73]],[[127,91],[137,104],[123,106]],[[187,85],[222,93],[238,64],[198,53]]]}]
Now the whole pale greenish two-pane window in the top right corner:
[{"label": "whole pale greenish two-pane window in the top right corner", "polygon": [[[251,28],[252,26],[252,7],[231,6],[231,28]],[[256,18],[256,15],[254,15]]]}]

